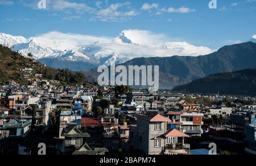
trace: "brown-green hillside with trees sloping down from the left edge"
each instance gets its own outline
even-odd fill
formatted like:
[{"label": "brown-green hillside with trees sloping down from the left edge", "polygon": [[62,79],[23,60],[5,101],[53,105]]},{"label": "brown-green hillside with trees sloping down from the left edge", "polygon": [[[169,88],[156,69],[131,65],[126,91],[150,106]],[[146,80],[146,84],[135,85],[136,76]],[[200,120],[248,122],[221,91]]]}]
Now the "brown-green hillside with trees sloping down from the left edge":
[{"label": "brown-green hillside with trees sloping down from the left edge", "polygon": [[32,68],[30,78],[35,74],[43,74],[43,78],[58,80],[63,85],[88,85],[84,74],[72,72],[69,69],[53,69],[35,60],[23,57],[18,52],[0,45],[0,82],[15,80],[20,84],[27,84],[27,79],[20,69]]}]

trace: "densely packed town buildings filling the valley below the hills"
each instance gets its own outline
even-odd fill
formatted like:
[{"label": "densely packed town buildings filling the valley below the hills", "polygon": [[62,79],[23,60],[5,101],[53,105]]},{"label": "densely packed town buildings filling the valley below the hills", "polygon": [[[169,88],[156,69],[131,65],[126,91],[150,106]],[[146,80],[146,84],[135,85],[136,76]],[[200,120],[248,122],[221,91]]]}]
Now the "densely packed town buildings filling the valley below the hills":
[{"label": "densely packed town buildings filling the valley below the hills", "polygon": [[205,106],[186,101],[185,94],[141,89],[118,96],[113,87],[61,86],[41,78],[0,86],[3,153],[36,153],[45,142],[52,154],[186,155],[214,142],[220,153],[255,154],[255,104]]}]

